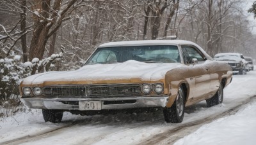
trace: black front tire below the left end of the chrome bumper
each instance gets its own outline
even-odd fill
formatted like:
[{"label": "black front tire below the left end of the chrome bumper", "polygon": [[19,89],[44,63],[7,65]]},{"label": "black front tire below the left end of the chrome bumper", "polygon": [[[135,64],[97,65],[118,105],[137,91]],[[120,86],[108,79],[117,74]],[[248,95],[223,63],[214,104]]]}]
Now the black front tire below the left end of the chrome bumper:
[{"label": "black front tire below the left end of the chrome bumper", "polygon": [[45,122],[60,123],[63,116],[63,111],[60,110],[42,109],[42,113]]}]

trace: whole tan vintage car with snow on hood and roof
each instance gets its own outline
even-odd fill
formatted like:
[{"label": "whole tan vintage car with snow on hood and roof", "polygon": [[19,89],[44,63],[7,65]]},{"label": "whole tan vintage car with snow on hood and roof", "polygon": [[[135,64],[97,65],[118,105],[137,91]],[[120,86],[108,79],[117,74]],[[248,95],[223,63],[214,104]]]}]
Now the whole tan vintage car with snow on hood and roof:
[{"label": "whole tan vintage car with snow on hood and roof", "polygon": [[168,123],[182,122],[186,106],[223,101],[232,68],[190,41],[122,41],[100,45],[76,71],[45,72],[20,84],[22,102],[58,123],[63,111],[98,114],[157,107]]}]

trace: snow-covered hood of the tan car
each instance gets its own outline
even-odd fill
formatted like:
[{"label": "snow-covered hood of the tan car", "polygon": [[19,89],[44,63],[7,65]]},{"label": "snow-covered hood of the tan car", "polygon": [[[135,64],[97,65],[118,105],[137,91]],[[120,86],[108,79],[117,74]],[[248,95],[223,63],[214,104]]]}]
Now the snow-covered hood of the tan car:
[{"label": "snow-covered hood of the tan car", "polygon": [[167,71],[185,66],[180,63],[144,63],[135,60],[117,64],[86,65],[76,71],[52,71],[29,76],[23,85],[72,85],[93,83],[140,83],[164,79]]}]

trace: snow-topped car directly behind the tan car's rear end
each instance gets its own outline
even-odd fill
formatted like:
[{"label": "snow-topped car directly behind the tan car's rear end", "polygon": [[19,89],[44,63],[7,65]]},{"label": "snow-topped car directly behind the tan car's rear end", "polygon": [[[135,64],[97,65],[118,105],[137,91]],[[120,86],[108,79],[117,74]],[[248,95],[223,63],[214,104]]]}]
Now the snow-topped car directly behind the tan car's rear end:
[{"label": "snow-topped car directly behind the tan car's rear end", "polygon": [[248,70],[248,62],[241,53],[218,53],[214,56],[214,60],[222,61],[232,67],[233,73],[246,74]]}]

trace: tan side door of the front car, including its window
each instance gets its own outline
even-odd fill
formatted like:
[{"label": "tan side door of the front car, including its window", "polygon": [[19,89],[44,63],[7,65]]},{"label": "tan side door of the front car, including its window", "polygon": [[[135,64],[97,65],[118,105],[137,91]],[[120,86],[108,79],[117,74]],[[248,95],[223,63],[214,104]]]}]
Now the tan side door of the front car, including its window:
[{"label": "tan side door of the front car, including its window", "polygon": [[[181,46],[184,64],[191,66],[190,79],[195,79],[195,88],[192,90],[193,97],[189,101],[195,102],[209,95],[211,85],[211,70],[205,63],[206,58],[195,46]],[[197,59],[198,63],[193,64],[192,59]]]}]

